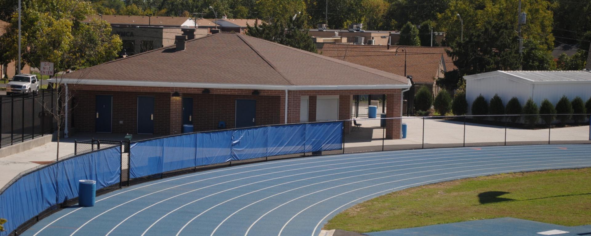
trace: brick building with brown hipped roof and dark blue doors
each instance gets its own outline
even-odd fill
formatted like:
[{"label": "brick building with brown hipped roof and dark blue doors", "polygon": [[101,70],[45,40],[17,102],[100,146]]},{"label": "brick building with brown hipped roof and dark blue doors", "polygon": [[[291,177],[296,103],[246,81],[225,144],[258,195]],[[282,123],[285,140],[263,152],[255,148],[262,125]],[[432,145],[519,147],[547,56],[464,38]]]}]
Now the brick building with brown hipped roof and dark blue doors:
[{"label": "brick building with brown hipped roof and dark blue doors", "polygon": [[[345,120],[355,94],[385,94],[387,117],[400,117],[401,90],[410,87],[402,76],[242,34],[177,37],[176,45],[59,80],[74,98],[70,132],[172,135],[183,124],[203,131],[220,122],[233,128]],[[388,120],[387,137],[400,137],[400,120]]]}]

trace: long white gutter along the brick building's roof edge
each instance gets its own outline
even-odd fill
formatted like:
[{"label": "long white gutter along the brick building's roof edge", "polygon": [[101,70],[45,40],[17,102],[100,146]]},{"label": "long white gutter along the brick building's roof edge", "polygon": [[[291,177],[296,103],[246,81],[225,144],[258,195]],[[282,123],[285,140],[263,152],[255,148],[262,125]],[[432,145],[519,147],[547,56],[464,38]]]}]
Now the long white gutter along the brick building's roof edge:
[{"label": "long white gutter along the brick building's roof edge", "polygon": [[209,84],[209,83],[171,83],[151,81],[121,81],[121,80],[84,80],[77,78],[63,78],[59,81],[50,78],[51,83],[74,83],[86,85],[108,86],[139,86],[139,87],[184,87],[196,89],[252,89],[252,90],[362,90],[362,89],[407,89],[411,84],[375,84],[375,85],[320,85],[320,86],[282,86],[265,84]]}]

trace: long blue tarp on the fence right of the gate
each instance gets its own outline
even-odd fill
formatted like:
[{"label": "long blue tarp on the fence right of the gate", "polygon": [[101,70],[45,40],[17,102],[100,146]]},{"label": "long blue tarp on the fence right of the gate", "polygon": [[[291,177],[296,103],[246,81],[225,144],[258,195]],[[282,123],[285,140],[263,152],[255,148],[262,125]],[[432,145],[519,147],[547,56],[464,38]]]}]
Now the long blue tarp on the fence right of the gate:
[{"label": "long blue tarp on the fence right of the gate", "polygon": [[338,150],[342,146],[343,122],[193,133],[133,143],[129,175],[134,179],[230,160]]}]

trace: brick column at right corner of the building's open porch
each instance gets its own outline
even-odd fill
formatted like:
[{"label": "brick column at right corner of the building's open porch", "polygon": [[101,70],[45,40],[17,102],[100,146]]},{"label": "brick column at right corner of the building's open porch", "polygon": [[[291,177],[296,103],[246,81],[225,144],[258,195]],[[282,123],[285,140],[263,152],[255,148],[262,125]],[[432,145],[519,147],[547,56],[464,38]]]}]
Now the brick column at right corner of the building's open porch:
[{"label": "brick column at right corner of the building's open porch", "polygon": [[[402,93],[400,89],[394,90],[394,93],[386,94],[386,117],[401,117]],[[402,120],[386,120],[386,138],[400,139]]]}]

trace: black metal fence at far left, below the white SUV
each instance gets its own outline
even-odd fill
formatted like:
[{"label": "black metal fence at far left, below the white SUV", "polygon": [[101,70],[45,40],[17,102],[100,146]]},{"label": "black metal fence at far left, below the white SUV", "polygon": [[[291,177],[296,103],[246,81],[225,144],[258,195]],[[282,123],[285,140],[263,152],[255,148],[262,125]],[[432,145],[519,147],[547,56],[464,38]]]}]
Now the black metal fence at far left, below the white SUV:
[{"label": "black metal fence at far left, below the white SUV", "polygon": [[0,97],[0,147],[53,133],[55,103],[53,90]]}]

